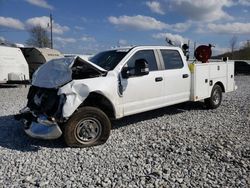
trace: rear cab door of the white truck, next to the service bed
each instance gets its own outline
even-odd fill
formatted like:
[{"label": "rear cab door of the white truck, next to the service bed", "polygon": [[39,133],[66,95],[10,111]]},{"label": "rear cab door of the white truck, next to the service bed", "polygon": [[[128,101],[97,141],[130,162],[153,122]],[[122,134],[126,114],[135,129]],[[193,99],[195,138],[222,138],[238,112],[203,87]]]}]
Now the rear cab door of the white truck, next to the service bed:
[{"label": "rear cab door of the white truck, next to the service bed", "polygon": [[190,99],[191,75],[178,50],[161,49],[161,60],[165,67],[164,104],[171,105]]}]

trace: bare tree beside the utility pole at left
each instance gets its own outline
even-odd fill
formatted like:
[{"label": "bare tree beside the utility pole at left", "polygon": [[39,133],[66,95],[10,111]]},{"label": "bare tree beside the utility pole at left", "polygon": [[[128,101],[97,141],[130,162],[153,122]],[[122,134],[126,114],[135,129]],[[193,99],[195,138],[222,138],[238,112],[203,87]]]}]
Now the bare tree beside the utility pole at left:
[{"label": "bare tree beside the utility pole at left", "polygon": [[50,47],[50,40],[46,29],[35,26],[29,30],[30,38],[26,41],[28,45],[44,48]]}]

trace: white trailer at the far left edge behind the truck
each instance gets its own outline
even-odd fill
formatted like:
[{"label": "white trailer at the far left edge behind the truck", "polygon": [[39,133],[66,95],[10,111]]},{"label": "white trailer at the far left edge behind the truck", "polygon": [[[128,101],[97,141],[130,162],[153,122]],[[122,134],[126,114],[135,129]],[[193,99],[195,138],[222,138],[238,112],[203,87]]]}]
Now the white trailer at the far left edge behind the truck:
[{"label": "white trailer at the far left edge behind the truck", "polygon": [[0,45],[0,83],[29,82],[29,67],[22,51],[16,47]]}]

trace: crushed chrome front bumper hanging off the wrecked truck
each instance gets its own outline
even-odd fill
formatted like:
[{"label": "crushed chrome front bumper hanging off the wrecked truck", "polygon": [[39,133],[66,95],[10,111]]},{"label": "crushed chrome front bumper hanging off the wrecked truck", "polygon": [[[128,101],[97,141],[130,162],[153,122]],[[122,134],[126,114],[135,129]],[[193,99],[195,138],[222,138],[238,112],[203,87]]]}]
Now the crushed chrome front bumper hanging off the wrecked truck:
[{"label": "crushed chrome front bumper hanging off the wrecked truck", "polygon": [[45,115],[35,116],[30,111],[21,111],[15,116],[15,119],[23,121],[25,133],[32,138],[52,140],[62,135],[59,125],[55,121],[49,120]]}]

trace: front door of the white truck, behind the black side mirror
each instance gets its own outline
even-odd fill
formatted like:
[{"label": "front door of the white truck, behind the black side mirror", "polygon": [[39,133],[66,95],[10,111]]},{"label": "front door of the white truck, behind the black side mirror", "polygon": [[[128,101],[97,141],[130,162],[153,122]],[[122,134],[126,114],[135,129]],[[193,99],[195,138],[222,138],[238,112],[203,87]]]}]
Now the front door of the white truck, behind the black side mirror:
[{"label": "front door of the white truck, behind the black side mirror", "polygon": [[[125,66],[131,69],[131,75],[121,80],[125,116],[155,109],[162,105],[164,80],[163,72],[159,71],[156,54],[157,52],[153,49],[139,50],[127,61]],[[148,75],[133,75],[133,67],[138,59],[145,59],[148,62]]]}]

